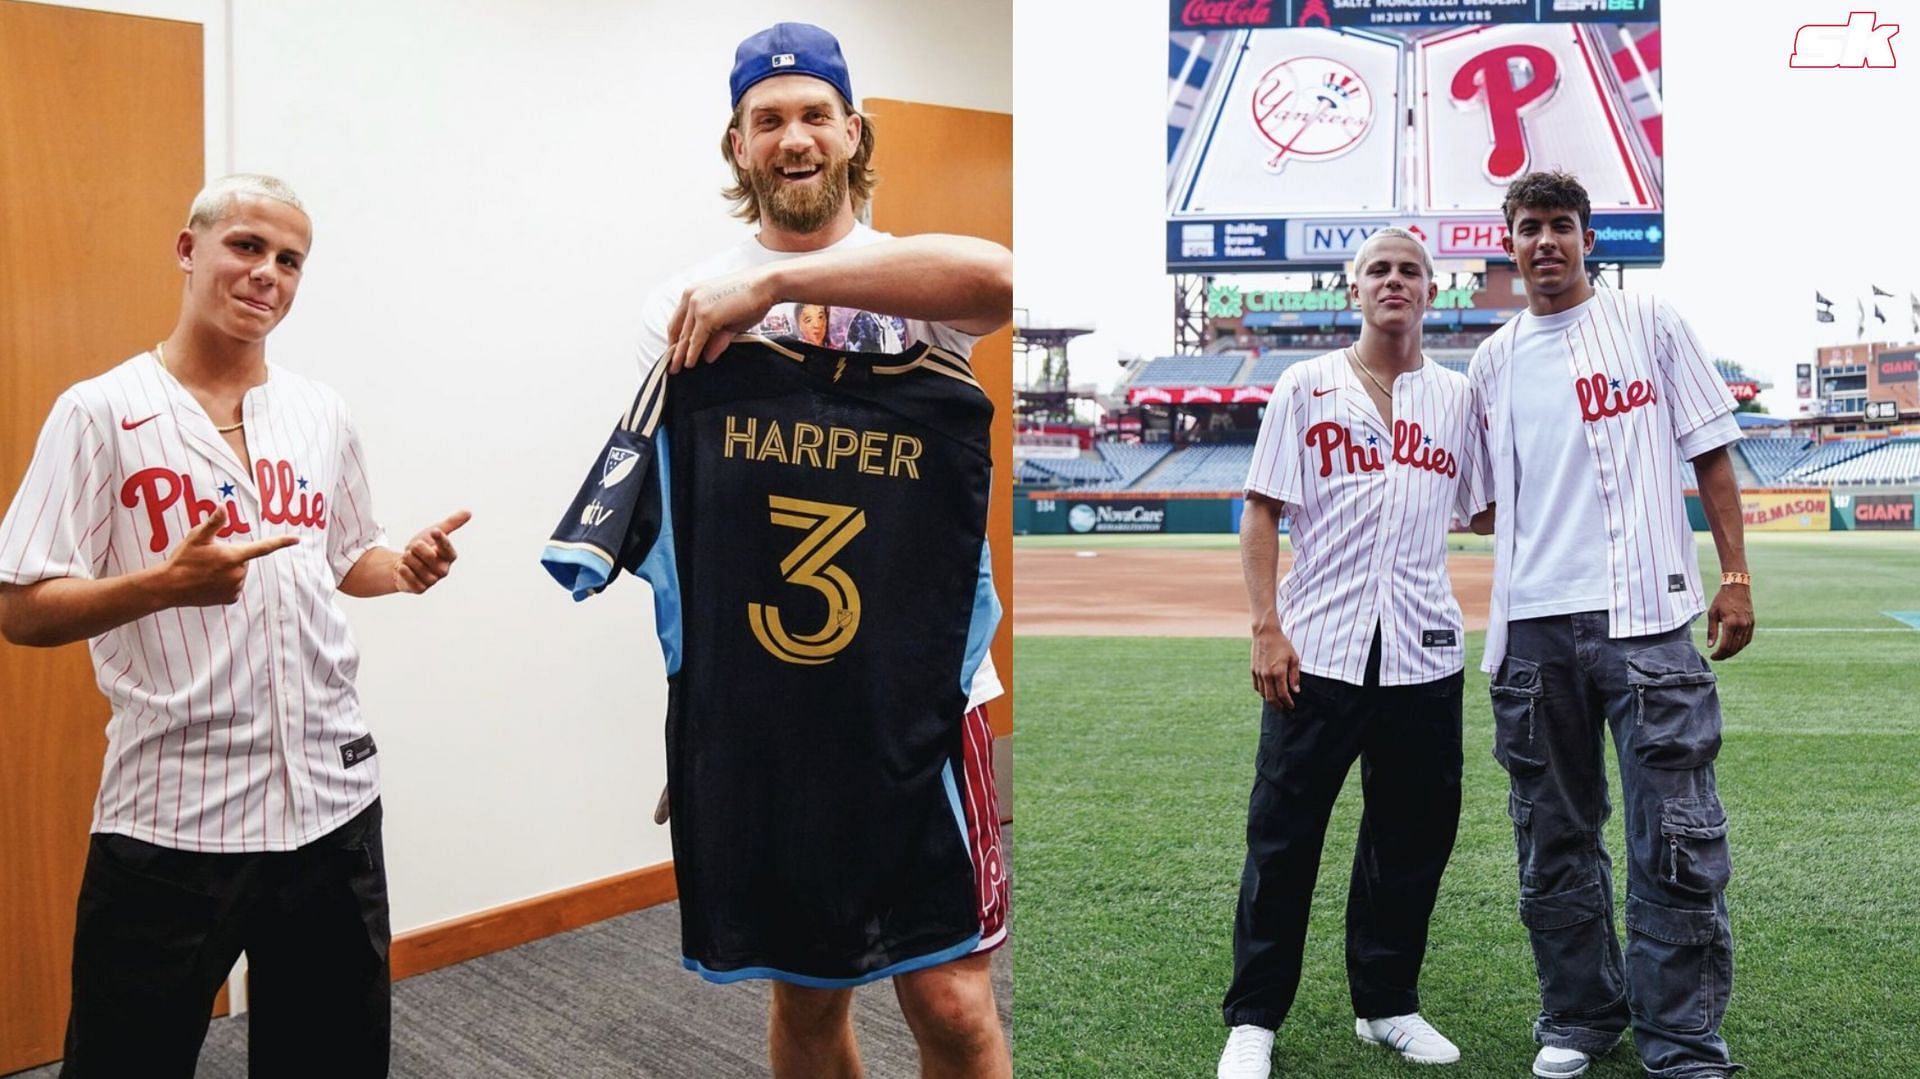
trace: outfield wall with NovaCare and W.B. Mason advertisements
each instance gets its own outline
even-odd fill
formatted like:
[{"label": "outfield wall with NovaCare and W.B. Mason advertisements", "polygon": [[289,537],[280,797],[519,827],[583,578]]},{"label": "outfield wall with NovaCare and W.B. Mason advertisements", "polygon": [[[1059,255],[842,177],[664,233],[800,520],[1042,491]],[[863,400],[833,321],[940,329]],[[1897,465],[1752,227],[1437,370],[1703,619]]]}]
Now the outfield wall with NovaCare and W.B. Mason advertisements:
[{"label": "outfield wall with NovaCare and W.B. Mason advertisements", "polygon": [[[1014,493],[1016,536],[1152,536],[1238,532],[1238,495],[1221,492],[1060,492],[1020,488]],[[1885,488],[1755,488],[1740,492],[1741,518],[1749,532],[1853,532],[1912,530],[1914,492]],[[1699,495],[1688,492],[1686,518],[1693,532],[1707,532]],[[1281,522],[1286,528],[1286,522]]]}]

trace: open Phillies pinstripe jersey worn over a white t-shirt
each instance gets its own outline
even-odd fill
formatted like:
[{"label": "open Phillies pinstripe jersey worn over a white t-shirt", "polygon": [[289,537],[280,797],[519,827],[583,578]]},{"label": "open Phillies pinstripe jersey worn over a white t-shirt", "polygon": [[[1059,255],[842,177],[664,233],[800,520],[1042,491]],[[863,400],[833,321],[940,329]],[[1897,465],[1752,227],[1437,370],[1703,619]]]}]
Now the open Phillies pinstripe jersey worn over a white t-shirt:
[{"label": "open Phillies pinstripe jersey worn over a white t-shirt", "polygon": [[[1594,290],[1582,315],[1559,328],[1563,367],[1515,372],[1519,319],[1480,342],[1469,380],[1486,453],[1482,484],[1501,507],[1494,538],[1494,597],[1488,611],[1486,657],[1500,668],[1507,655],[1507,603],[1515,528],[1505,507],[1515,505],[1524,463],[1515,459],[1513,430],[1528,422],[1574,422],[1599,484],[1605,536],[1609,634],[1661,634],[1705,611],[1693,530],[1686,518],[1680,461],[1740,438],[1732,422],[1734,396],[1701,349],[1693,330],[1665,301],[1611,288]],[[1517,415],[1513,380],[1561,380],[1571,397],[1565,417]],[[1484,507],[1482,507],[1484,509]]]}]

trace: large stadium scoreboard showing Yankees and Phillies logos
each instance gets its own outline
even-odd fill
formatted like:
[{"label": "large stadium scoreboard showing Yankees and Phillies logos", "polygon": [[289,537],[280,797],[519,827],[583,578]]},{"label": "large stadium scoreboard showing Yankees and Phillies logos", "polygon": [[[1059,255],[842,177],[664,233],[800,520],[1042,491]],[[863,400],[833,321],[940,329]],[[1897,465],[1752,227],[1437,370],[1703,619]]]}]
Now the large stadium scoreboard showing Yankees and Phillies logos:
[{"label": "large stadium scoreboard showing Yankees and Phillies logos", "polygon": [[1388,225],[1503,259],[1532,169],[1580,177],[1592,259],[1657,265],[1659,4],[1171,0],[1167,269],[1334,269]]}]

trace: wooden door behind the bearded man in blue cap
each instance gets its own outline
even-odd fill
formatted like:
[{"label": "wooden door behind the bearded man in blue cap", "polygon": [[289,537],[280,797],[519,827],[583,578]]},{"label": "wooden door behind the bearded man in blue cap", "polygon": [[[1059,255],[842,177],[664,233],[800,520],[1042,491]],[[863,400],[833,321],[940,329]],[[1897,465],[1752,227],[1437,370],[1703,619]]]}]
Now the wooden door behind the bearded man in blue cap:
[{"label": "wooden door behind the bearded man in blue cap", "polygon": [[[1014,117],[979,109],[868,98],[874,117],[874,228],[960,232],[1014,246]],[[1008,311],[1012,315],[1012,311]],[[1014,812],[1014,328],[973,346],[973,376],[993,396],[993,503],[987,538],[993,584],[1006,616],[993,639],[993,666],[1006,697],[989,707],[998,735],[1000,812]]]}]

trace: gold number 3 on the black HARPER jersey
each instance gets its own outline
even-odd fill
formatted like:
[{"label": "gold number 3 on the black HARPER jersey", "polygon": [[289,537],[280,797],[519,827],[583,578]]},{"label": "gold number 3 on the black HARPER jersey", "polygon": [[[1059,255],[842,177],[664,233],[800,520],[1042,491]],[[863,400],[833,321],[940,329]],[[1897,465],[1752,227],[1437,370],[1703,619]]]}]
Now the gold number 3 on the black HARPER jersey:
[{"label": "gold number 3 on the black HARPER jersey", "polygon": [[866,528],[866,513],[851,505],[781,495],[768,495],[766,503],[772,507],[774,524],[806,530],[799,545],[780,561],[780,576],[787,584],[810,587],[826,597],[828,620],[812,634],[793,635],[781,626],[778,607],[749,603],[747,624],[774,659],[808,666],[831,662],[833,655],[860,632],[860,589],[847,570],[831,563],[833,555]]}]

